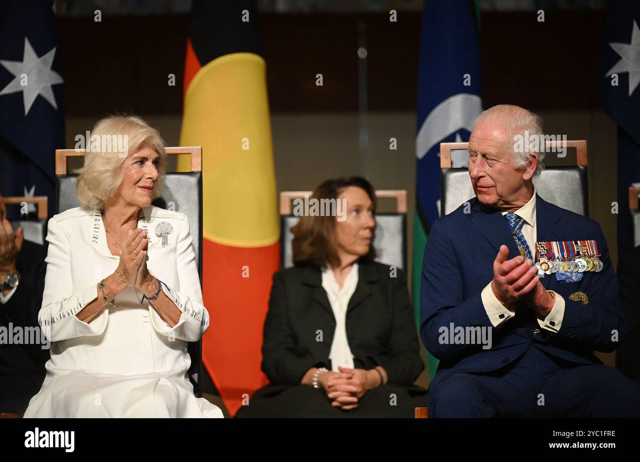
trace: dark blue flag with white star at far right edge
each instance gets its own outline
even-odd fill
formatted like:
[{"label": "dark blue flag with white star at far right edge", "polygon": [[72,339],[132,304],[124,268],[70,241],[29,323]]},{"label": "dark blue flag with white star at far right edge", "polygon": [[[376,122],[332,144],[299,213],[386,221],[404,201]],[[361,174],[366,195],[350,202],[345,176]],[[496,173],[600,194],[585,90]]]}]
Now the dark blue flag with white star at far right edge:
[{"label": "dark blue flag with white star at far right edge", "polygon": [[605,22],[600,102],[618,124],[618,253],[633,246],[628,187],[640,182],[640,3],[609,3]]}]

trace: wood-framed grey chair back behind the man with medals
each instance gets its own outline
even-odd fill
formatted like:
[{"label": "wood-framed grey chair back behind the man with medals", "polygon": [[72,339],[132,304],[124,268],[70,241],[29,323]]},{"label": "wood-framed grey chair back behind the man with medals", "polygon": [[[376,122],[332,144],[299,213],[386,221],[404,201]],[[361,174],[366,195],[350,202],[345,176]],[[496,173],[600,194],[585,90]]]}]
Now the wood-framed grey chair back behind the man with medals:
[{"label": "wood-framed grey chair back behind the man with medals", "polygon": [[[476,196],[467,168],[451,168],[451,150],[466,150],[467,147],[468,143],[440,143],[441,216],[450,214]],[[589,216],[586,141],[566,141],[566,147],[576,148],[577,165],[545,167],[534,177],[536,193],[558,207]]]}]

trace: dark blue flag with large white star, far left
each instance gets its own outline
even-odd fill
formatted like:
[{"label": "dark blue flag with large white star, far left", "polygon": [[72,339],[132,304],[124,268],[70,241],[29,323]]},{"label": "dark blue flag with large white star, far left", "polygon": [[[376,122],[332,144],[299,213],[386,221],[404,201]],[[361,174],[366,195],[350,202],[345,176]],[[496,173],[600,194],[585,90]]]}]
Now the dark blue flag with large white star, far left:
[{"label": "dark blue flag with large white star, far left", "polygon": [[65,143],[61,56],[53,8],[52,0],[3,1],[0,8],[3,195],[47,196],[49,216],[56,199],[54,152]]}]

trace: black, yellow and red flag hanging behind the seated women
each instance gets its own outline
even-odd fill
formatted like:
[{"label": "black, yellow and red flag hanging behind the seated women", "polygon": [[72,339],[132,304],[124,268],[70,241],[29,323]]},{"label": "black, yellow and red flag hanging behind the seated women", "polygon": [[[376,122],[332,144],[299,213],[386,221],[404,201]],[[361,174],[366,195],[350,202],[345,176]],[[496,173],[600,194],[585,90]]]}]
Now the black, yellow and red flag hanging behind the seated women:
[{"label": "black, yellow and red flag hanging behind the seated women", "polygon": [[[260,370],[262,328],[280,269],[257,19],[251,1],[193,1],[180,133],[181,146],[202,146],[202,291],[211,320],[202,358],[231,415],[268,383]],[[179,170],[186,164],[179,159]]]}]

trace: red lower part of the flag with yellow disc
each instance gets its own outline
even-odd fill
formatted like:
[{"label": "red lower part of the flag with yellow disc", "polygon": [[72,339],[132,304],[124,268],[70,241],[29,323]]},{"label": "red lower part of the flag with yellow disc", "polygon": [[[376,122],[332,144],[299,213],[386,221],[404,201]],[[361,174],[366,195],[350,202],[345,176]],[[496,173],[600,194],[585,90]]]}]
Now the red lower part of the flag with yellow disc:
[{"label": "red lower part of the flag with yellow disc", "polygon": [[[260,349],[273,273],[280,269],[280,243],[240,248],[203,239],[203,248],[202,295],[210,324],[202,360],[234,415],[243,394],[251,396],[268,383]],[[249,277],[243,277],[247,271]]]}]

